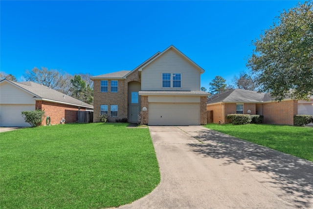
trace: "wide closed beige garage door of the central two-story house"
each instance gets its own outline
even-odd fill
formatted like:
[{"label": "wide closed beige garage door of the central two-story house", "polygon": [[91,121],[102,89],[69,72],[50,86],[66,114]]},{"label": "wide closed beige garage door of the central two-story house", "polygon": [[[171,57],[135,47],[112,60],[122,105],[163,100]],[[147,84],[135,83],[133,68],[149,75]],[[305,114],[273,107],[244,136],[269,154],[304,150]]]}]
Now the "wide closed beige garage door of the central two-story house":
[{"label": "wide closed beige garage door of the central two-story house", "polygon": [[148,125],[200,125],[199,103],[149,103]]}]

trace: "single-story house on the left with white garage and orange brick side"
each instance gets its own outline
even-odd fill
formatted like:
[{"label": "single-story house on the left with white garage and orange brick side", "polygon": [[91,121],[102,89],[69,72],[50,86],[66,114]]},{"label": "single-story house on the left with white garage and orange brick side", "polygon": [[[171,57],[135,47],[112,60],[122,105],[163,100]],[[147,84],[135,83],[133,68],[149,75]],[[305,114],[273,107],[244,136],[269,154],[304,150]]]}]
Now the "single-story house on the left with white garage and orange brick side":
[{"label": "single-story house on the left with white garage and orange brick side", "polygon": [[[77,111],[93,110],[93,106],[71,96],[31,81],[0,81],[0,126],[30,126],[21,115],[22,111],[45,110],[45,118],[50,116],[50,124],[60,124],[77,120]],[[45,125],[46,120],[43,120]]]}]

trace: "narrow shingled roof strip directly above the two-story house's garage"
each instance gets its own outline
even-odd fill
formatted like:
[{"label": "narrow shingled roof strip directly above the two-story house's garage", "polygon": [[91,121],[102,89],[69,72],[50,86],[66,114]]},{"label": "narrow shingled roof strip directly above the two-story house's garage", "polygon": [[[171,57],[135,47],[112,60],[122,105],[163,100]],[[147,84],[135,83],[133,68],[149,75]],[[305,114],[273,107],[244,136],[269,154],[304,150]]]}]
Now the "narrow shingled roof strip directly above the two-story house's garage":
[{"label": "narrow shingled roof strip directly above the two-story house's garage", "polygon": [[210,93],[203,91],[139,91],[139,95],[208,96]]}]

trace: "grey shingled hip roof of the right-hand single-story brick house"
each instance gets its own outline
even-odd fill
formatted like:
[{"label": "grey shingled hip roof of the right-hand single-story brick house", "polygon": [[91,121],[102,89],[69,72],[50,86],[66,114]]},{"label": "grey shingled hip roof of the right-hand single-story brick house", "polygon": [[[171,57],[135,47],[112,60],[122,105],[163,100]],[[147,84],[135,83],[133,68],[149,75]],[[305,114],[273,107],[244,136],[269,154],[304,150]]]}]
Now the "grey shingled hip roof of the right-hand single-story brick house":
[{"label": "grey shingled hip roof of the right-hand single-story brick house", "polygon": [[254,91],[244,89],[233,89],[221,94],[216,94],[211,98],[208,98],[207,104],[213,104],[217,102],[252,102],[260,103],[266,101],[272,101],[269,93],[258,93]]}]

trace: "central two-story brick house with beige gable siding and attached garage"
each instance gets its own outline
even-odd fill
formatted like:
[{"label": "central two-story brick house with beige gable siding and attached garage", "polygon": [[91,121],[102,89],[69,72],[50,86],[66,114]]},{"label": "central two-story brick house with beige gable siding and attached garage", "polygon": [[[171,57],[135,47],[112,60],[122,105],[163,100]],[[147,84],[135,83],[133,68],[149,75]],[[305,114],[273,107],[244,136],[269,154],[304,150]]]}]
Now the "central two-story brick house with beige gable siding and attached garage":
[{"label": "central two-story brick house with beige gable siding and attached garage", "polygon": [[109,121],[127,118],[138,122],[140,111],[148,125],[206,124],[206,97],[201,92],[204,70],[169,46],[134,70],[93,76],[94,116],[107,114]]}]

